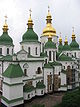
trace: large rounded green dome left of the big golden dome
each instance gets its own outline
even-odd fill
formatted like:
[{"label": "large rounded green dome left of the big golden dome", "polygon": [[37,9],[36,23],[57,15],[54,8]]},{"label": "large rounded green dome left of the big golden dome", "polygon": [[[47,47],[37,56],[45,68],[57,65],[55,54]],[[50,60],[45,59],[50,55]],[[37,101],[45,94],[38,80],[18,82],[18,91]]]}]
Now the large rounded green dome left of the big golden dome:
[{"label": "large rounded green dome left of the big golden dome", "polygon": [[38,42],[38,35],[33,31],[33,28],[28,28],[22,37],[22,42]]}]

